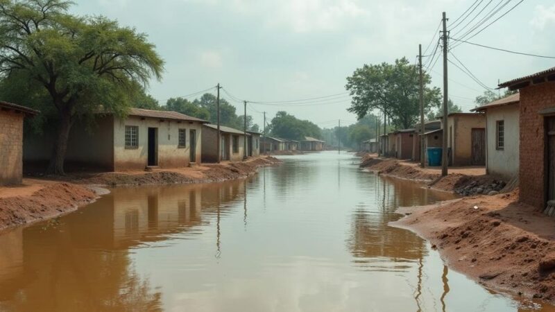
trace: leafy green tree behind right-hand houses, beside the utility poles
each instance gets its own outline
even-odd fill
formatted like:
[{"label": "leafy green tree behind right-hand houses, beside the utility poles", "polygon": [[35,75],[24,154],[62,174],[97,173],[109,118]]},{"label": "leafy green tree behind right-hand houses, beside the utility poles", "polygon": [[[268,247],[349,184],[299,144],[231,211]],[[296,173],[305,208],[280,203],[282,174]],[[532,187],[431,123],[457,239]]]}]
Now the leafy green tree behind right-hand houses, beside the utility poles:
[{"label": "leafy green tree behind right-hand houses, beside the utility poles", "polygon": [[[430,87],[432,78],[422,74],[425,112],[441,103],[440,89]],[[394,125],[409,128],[420,116],[418,67],[407,58],[394,64],[365,64],[347,78],[346,89],[352,96],[349,112],[361,119],[373,110],[381,110]]]}]

